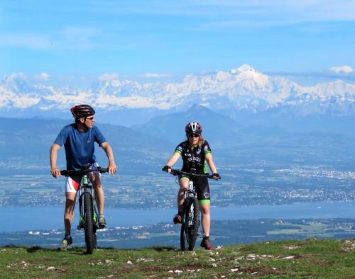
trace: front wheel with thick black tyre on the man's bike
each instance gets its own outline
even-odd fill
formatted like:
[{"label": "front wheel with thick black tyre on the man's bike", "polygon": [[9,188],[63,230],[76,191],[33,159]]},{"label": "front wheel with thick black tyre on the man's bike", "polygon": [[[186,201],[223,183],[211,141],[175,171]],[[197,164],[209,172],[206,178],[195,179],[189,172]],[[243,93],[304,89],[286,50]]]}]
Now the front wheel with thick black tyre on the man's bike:
[{"label": "front wheel with thick black tyre on the man's bike", "polygon": [[87,245],[87,254],[92,254],[96,246],[96,235],[94,232],[94,220],[92,212],[92,196],[84,193],[84,231],[85,243]]}]

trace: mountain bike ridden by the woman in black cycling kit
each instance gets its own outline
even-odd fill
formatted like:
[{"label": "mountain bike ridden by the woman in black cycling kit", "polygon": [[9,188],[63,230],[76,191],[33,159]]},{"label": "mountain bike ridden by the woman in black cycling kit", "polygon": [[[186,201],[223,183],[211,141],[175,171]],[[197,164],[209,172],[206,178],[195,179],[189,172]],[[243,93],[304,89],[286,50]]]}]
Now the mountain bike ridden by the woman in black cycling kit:
[{"label": "mountain bike ridden by the woman in black cycling kit", "polygon": [[195,169],[191,169],[190,173],[180,171],[178,169],[172,169],[170,173],[173,174],[173,176],[185,175],[190,179],[189,186],[187,187],[187,190],[184,191],[180,231],[180,249],[181,251],[192,251],[195,247],[197,232],[200,226],[200,207],[195,190],[196,178],[214,178],[209,173],[197,174],[195,173]]}]

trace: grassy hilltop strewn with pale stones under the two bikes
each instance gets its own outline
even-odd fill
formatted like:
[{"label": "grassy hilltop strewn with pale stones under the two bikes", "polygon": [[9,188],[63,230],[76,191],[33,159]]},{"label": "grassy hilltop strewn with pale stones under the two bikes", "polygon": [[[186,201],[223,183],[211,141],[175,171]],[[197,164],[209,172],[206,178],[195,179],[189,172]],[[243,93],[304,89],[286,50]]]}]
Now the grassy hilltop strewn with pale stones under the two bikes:
[{"label": "grassy hilltop strewn with pale stones under the two bikes", "polygon": [[1,278],[355,278],[355,239],[83,252],[1,247]]}]

